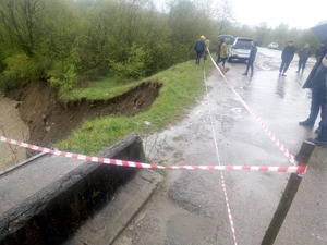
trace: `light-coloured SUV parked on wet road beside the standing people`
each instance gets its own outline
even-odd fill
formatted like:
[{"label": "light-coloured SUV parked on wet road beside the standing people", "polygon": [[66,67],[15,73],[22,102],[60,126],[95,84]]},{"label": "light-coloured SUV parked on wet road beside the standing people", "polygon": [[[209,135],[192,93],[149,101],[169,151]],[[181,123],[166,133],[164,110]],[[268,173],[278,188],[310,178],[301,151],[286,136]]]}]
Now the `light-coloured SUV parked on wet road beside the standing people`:
[{"label": "light-coloured SUV parked on wet road beside the standing people", "polygon": [[228,46],[228,61],[240,60],[247,61],[250,58],[251,42],[253,38],[237,37],[234,42]]}]

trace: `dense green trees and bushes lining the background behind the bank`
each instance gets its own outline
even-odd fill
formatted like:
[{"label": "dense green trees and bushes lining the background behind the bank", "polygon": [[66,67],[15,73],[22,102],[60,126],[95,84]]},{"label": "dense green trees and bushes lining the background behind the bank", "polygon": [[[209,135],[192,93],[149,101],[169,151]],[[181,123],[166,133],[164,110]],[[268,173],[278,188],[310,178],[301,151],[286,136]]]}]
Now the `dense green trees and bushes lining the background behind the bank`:
[{"label": "dense green trees and bushes lining the background behind the bank", "polygon": [[137,79],[193,59],[199,35],[215,49],[219,34],[318,46],[310,30],[282,23],[235,23],[229,0],[1,0],[0,89],[46,82],[64,93],[102,76]]}]

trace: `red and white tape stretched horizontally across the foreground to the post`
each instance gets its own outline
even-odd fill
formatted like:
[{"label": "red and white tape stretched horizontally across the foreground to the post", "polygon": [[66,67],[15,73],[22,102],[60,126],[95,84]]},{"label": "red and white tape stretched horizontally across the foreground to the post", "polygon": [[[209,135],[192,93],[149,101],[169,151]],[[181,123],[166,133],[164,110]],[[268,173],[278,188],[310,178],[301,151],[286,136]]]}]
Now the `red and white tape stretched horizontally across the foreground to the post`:
[{"label": "red and white tape stretched horizontally across the foreground to the post", "polygon": [[258,171],[258,172],[281,172],[281,173],[296,173],[303,174],[306,172],[305,164],[298,166],[279,166],[279,167],[269,167],[269,166],[158,166],[158,164],[149,164],[143,162],[135,161],[125,161],[102,157],[92,157],[81,154],[66,152],[58,149],[49,149],[40,146],[29,145],[27,143],[17,142],[14,139],[7,138],[4,136],[0,136],[0,142],[4,142],[11,145],[16,145],[20,147],[24,147],[27,149],[36,150],[39,152],[45,152],[49,155],[72,158],[77,160],[111,164],[111,166],[122,166],[130,168],[138,168],[138,169],[164,169],[164,170],[246,170],[246,171]]}]

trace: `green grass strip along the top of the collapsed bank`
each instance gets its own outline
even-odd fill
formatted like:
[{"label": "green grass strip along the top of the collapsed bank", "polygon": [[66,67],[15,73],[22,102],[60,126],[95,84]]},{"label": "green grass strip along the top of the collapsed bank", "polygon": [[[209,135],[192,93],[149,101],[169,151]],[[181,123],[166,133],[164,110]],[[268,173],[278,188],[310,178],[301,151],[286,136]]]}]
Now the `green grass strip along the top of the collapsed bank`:
[{"label": "green grass strip along the top of the collapsed bank", "polygon": [[[211,63],[207,62],[207,71],[211,71]],[[195,65],[194,61],[178,64],[143,81],[164,84],[159,96],[147,111],[134,117],[101,117],[84,121],[66,139],[55,146],[81,154],[96,154],[130,133],[142,135],[175,122],[204,93],[203,70],[199,65]],[[93,87],[76,89],[69,99],[109,98],[120,95],[140,83],[142,81],[122,84],[104,79]],[[150,124],[145,122],[150,122]]]}]

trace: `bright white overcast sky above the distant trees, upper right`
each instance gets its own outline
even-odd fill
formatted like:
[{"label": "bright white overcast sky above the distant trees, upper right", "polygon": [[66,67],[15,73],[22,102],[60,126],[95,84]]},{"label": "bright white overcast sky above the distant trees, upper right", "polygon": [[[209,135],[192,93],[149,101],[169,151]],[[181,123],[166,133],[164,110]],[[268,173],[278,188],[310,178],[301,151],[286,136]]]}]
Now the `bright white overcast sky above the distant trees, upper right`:
[{"label": "bright white overcast sky above the distant trees, upper right", "polygon": [[231,0],[234,17],[241,24],[259,25],[266,22],[269,27],[280,23],[290,28],[310,28],[327,20],[326,0]]}]

